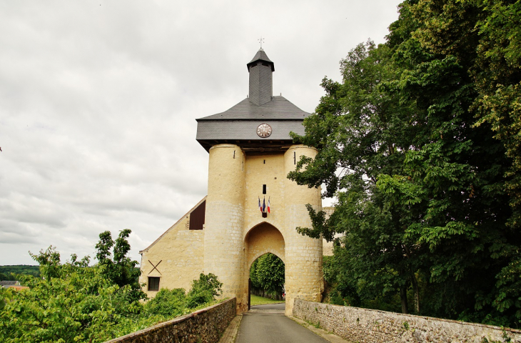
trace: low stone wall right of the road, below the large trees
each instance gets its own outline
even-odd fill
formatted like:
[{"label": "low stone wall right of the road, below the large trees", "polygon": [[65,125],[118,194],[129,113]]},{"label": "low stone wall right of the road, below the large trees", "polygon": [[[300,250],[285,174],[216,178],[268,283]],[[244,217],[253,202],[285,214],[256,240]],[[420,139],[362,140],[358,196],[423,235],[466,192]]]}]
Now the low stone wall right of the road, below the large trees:
[{"label": "low stone wall right of the road, below the large trees", "polygon": [[521,331],[516,329],[300,299],[295,299],[293,317],[320,326],[349,342],[521,342]]}]

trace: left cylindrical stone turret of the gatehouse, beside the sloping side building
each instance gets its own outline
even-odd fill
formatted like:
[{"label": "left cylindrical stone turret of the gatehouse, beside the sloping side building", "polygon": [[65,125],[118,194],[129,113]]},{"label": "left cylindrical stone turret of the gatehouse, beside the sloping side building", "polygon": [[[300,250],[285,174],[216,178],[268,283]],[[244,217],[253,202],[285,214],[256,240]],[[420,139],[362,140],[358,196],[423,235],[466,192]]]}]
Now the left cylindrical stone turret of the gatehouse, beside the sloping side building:
[{"label": "left cylindrical stone turret of the gatehouse, beside the sloping side building", "polygon": [[204,272],[223,282],[223,297],[236,297],[243,275],[244,154],[239,146],[210,149],[204,236]]}]

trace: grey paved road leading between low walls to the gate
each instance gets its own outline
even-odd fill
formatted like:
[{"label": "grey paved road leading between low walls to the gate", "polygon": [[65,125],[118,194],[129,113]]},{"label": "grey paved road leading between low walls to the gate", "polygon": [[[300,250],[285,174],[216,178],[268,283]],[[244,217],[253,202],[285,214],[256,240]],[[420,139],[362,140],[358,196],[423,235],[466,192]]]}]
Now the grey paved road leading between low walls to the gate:
[{"label": "grey paved road leading between low walls to the gate", "polygon": [[284,315],[285,304],[252,306],[243,314],[236,343],[328,343]]}]

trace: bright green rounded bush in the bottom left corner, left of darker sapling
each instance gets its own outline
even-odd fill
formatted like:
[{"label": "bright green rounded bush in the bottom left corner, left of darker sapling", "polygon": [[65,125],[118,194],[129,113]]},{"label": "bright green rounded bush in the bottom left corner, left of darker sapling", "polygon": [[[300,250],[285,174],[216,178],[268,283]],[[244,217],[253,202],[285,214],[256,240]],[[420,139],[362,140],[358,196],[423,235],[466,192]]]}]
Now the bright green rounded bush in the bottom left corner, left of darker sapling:
[{"label": "bright green rounded bush in the bottom left corner, left of darker sapling", "polygon": [[29,289],[0,289],[1,342],[103,342],[116,337],[121,313],[136,313],[138,302],[121,302],[131,292],[105,277],[103,267],[86,267],[88,258],[61,264],[49,247],[32,255],[44,278],[21,276]]}]

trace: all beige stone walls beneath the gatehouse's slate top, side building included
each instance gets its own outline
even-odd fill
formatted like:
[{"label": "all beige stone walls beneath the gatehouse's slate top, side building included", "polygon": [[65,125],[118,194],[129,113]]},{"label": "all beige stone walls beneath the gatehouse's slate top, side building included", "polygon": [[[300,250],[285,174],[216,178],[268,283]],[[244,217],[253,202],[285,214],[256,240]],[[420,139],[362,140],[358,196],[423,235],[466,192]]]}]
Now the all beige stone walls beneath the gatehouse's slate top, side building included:
[{"label": "all beige stone walls beneath the gatehouse's slate top, side building included", "polygon": [[[176,264],[168,269],[169,276],[159,268],[163,286],[189,288],[189,281],[200,272],[213,273],[223,282],[222,297],[237,297],[241,312],[248,307],[251,264],[272,252],[285,262],[286,312],[291,313],[295,297],[319,301],[323,291],[323,242],[298,234],[295,227],[310,227],[305,205],[321,209],[320,189],[298,186],[286,177],[295,169],[295,159],[298,161],[301,155],[314,157],[316,150],[296,145],[278,154],[244,154],[239,146],[219,144],[209,152],[205,229],[196,233],[197,238],[183,233],[182,219],[176,224],[179,229],[169,230],[143,252],[142,278],[156,276],[156,271],[148,274],[152,269],[147,265],[149,258],[156,263],[171,256]],[[258,209],[258,199],[262,202],[264,197],[263,184],[265,203],[267,206],[270,199],[271,209],[266,218]],[[201,249],[191,262],[197,263],[188,270],[185,252],[189,247],[193,253],[196,243]]]}]

